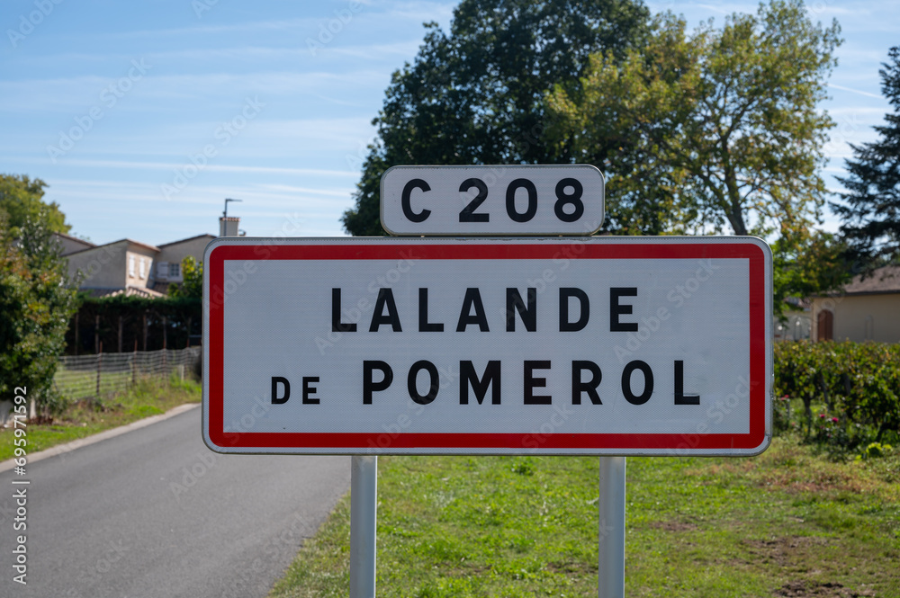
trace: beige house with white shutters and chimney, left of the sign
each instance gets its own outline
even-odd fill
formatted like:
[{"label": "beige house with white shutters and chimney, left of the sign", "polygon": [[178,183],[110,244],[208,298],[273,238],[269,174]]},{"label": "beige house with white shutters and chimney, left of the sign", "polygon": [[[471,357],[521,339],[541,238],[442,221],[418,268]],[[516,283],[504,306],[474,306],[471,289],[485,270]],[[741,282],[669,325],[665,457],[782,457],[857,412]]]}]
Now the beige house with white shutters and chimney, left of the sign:
[{"label": "beige house with white shutters and chimney, left of the sign", "polygon": [[[220,217],[220,236],[237,236],[240,219]],[[124,293],[128,296],[163,297],[168,287],[184,280],[182,260],[188,255],[198,263],[214,235],[197,235],[164,245],[148,245],[124,238],[104,245],[56,234],[68,273],[81,272],[79,289],[94,297]]]}]

